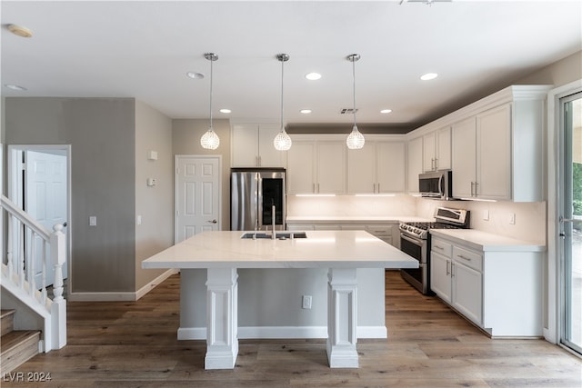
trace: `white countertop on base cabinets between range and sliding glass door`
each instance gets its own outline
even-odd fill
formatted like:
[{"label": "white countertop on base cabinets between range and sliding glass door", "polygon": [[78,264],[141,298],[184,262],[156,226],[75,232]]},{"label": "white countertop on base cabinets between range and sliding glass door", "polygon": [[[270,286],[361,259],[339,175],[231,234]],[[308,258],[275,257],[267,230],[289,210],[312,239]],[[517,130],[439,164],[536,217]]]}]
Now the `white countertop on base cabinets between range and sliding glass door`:
[{"label": "white countertop on base cabinets between range and sliding glass door", "polygon": [[432,229],[430,234],[485,252],[545,252],[546,245],[474,229]]}]

